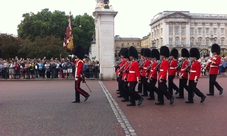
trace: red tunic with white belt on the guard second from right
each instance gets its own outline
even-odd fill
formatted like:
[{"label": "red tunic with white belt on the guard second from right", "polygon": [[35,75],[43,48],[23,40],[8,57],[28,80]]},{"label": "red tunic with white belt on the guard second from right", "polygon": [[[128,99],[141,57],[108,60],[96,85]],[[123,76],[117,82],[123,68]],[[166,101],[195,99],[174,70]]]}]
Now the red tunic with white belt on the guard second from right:
[{"label": "red tunic with white belt on the guard second from right", "polygon": [[199,79],[201,73],[201,64],[197,60],[192,62],[190,68],[190,75],[189,80],[195,80],[196,78]]}]

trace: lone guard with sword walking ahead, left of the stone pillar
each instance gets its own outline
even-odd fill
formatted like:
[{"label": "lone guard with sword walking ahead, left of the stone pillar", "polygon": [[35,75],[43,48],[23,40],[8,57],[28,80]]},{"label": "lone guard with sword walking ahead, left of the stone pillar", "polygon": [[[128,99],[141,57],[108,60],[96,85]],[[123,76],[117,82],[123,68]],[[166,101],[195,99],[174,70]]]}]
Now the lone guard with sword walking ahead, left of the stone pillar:
[{"label": "lone guard with sword walking ahead, left of the stone pillar", "polygon": [[80,103],[80,94],[85,97],[84,101],[86,101],[90,96],[87,92],[80,88],[81,81],[85,83],[83,71],[84,62],[82,60],[85,54],[83,46],[81,45],[76,46],[76,48],[73,50],[73,54],[78,59],[76,60],[75,64],[75,101],[73,101],[72,103]]}]

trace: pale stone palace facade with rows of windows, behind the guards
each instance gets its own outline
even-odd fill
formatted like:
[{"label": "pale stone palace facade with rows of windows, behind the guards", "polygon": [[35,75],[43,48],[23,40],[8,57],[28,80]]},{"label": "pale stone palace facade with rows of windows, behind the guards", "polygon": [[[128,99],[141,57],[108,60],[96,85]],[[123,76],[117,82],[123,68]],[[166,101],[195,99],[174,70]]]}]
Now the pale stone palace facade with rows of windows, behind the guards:
[{"label": "pale stone palace facade with rows of windows, behind the guards", "polygon": [[217,43],[223,51],[227,49],[227,14],[163,11],[153,17],[150,26],[151,42],[157,48],[198,47],[208,54],[212,43]]}]

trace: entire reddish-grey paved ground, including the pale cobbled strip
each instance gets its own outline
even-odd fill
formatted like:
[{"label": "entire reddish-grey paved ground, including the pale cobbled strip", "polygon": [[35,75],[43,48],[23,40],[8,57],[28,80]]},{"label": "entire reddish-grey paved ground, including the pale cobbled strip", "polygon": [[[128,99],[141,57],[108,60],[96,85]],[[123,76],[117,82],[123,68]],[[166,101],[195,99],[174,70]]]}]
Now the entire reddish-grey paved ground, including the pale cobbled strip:
[{"label": "entire reddish-grey paved ground, including the pale cobbled strip", "polygon": [[[145,100],[128,107],[117,98],[116,81],[87,80],[90,98],[74,99],[73,80],[1,80],[0,136],[225,136],[227,134],[227,78],[218,77],[224,88],[219,95],[207,96],[194,104],[175,99],[173,105]],[[178,85],[178,79],[174,82]],[[208,78],[198,88],[208,93]],[[156,96],[157,98],[157,96]]]}]

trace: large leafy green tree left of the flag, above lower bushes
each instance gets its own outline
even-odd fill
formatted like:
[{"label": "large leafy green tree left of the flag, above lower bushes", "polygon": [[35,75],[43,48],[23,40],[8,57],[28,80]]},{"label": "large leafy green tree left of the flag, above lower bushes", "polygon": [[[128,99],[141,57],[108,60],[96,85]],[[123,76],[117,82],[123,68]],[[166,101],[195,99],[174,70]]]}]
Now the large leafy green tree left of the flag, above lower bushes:
[{"label": "large leafy green tree left of the flag, above lower bushes", "polygon": [[65,12],[55,10],[52,13],[49,9],[43,9],[37,14],[25,13],[22,17],[24,19],[18,25],[18,36],[23,39],[34,41],[38,36],[64,37],[65,26],[68,23]]}]

